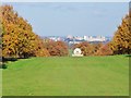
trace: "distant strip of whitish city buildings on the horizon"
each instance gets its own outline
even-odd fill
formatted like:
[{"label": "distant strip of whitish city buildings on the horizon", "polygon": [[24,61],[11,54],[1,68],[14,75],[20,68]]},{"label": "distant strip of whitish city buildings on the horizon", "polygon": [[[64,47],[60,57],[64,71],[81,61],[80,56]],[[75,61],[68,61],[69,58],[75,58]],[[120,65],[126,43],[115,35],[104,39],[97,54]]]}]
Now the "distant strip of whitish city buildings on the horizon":
[{"label": "distant strip of whitish city buildings on the horizon", "polygon": [[43,37],[44,41],[64,41],[69,45],[74,45],[74,44],[80,44],[83,41],[88,41],[92,44],[97,44],[97,42],[104,42],[107,44],[110,41],[111,37],[105,37],[105,36],[67,36],[67,37],[61,37],[61,36],[48,36],[48,37]]}]

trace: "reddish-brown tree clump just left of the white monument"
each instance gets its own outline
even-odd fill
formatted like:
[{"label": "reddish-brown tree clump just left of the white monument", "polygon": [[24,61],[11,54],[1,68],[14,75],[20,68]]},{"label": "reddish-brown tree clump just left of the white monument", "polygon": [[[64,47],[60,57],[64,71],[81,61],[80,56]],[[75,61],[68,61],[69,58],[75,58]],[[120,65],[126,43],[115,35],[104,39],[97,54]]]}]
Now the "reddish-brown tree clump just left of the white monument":
[{"label": "reddish-brown tree clump just left of the white monument", "polygon": [[46,49],[49,51],[50,56],[68,56],[68,46],[63,41],[48,41],[45,44]]}]

